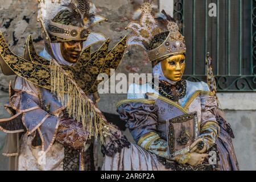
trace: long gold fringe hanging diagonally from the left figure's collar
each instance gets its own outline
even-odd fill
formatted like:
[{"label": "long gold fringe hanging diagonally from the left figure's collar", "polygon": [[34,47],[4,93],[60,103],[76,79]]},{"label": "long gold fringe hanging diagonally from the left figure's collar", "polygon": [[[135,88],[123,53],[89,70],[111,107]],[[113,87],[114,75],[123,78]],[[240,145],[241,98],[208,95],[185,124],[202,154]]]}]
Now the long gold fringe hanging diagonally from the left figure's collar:
[{"label": "long gold fringe hanging diagonally from the left figure's collar", "polygon": [[104,138],[111,135],[109,129],[112,125],[109,125],[93,101],[55,60],[51,61],[51,90],[61,104],[66,107],[69,117],[82,122],[90,137],[97,139],[99,135],[100,142],[104,144]]}]

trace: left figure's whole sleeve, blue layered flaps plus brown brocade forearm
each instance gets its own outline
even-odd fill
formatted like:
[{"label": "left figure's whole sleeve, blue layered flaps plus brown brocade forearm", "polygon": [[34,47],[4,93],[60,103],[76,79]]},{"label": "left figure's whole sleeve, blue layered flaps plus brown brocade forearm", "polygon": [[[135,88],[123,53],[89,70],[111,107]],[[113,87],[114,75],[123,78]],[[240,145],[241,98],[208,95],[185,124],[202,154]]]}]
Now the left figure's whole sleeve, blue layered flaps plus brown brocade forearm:
[{"label": "left figure's whole sleeve, blue layered flaps plus brown brocade forearm", "polygon": [[[82,131],[79,123],[62,117],[65,107],[49,90],[26,81],[18,85],[21,85],[17,86],[19,89],[10,88],[13,93],[6,108],[19,116],[21,122],[18,123],[22,123],[28,135],[34,136],[32,146],[41,146],[42,150],[48,151],[55,140],[77,150],[84,146],[82,142],[88,135]],[[16,122],[14,119],[12,121]]]}]

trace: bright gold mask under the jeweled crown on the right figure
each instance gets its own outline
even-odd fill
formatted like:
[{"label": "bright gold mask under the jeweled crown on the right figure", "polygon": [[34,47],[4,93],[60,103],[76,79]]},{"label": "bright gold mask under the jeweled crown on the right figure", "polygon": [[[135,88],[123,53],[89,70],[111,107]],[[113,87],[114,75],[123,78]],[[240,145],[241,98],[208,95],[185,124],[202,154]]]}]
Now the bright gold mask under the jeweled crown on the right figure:
[{"label": "bright gold mask under the jeweled crown on the right figure", "polygon": [[161,62],[163,75],[171,81],[180,81],[185,69],[185,55],[168,57]]}]

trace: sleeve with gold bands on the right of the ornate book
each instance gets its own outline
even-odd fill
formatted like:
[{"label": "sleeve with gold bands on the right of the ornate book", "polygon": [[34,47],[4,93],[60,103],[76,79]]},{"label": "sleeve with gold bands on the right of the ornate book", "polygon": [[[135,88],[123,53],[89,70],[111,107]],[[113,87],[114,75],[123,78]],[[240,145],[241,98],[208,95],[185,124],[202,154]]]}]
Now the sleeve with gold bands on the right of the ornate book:
[{"label": "sleeve with gold bands on the right of the ornate book", "polygon": [[216,121],[215,110],[217,107],[217,101],[214,96],[209,94],[201,94],[201,125],[200,136],[203,138],[204,143],[207,146],[207,150],[213,146],[216,141],[216,137],[220,133],[220,127]]}]

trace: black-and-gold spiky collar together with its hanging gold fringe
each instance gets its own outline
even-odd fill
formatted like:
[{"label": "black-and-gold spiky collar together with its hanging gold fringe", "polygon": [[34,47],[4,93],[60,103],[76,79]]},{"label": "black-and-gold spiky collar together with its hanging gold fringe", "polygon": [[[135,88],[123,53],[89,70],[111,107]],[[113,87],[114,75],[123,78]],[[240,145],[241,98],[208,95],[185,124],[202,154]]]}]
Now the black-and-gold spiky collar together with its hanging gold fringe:
[{"label": "black-and-gold spiky collar together with its hanging gold fringe", "polygon": [[[93,56],[89,56],[90,47],[86,48],[80,56],[79,61],[81,62],[76,67],[63,67],[57,64],[55,60],[50,60],[50,65],[43,65],[42,63],[48,64],[47,60],[43,60],[42,57],[36,54],[31,38],[27,40],[26,51],[28,51],[30,60],[23,59],[11,52],[0,32],[0,56],[5,61],[5,64],[16,75],[23,77],[25,80],[52,90],[61,104],[66,106],[69,116],[76,119],[76,121],[82,122],[83,126],[88,129],[89,137],[95,137],[97,139],[99,136],[100,142],[105,143],[105,136],[112,135],[106,128],[112,126],[109,126],[104,115],[102,115],[101,111],[85,93],[89,93],[92,90],[98,74],[104,68],[105,58],[108,57],[109,40],[98,51],[93,53]],[[110,52],[113,56],[109,57],[109,61],[117,59],[117,63],[119,63],[125,51],[125,42],[126,38],[122,39],[118,46]],[[109,67],[117,66],[112,65],[112,63],[108,64],[110,65]],[[42,138],[40,130],[38,132],[40,138]]]}]

